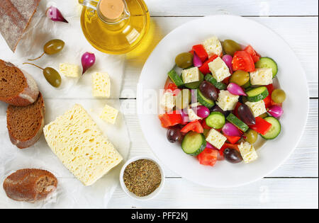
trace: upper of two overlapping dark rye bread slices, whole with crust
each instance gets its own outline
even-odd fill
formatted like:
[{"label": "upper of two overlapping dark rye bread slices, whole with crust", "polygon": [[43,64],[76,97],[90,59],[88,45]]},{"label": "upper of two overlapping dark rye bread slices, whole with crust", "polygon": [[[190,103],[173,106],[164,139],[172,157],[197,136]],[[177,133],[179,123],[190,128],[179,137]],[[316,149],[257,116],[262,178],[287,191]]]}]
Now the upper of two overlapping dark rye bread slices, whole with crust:
[{"label": "upper of two overlapping dark rye bread slices, whole with crust", "polygon": [[0,59],[0,101],[26,106],[37,100],[38,84],[30,74]]}]

